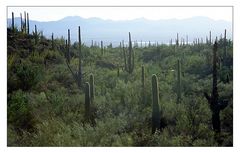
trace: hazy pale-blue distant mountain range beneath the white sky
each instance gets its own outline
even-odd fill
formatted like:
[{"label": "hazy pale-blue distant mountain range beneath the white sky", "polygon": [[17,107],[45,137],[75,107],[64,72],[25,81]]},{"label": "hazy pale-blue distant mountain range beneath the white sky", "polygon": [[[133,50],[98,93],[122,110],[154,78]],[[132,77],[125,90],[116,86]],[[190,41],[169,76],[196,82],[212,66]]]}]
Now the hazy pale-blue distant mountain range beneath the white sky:
[{"label": "hazy pale-blue distant mountain range beneath the white sky", "polygon": [[[8,19],[8,25],[10,24],[11,19]],[[20,27],[20,18],[15,18],[15,24]],[[121,21],[68,16],[61,20],[48,22],[30,20],[30,31],[34,30],[34,25],[37,25],[38,30],[43,31],[47,37],[54,33],[55,37],[67,38],[67,30],[70,29],[72,42],[77,40],[77,29],[81,26],[82,41],[87,45],[90,45],[92,40],[97,42],[102,40],[105,45],[110,42],[118,45],[120,41],[128,40],[128,32],[131,32],[132,39],[136,41],[168,43],[171,38],[176,38],[177,33],[180,38],[186,38],[188,35],[189,41],[197,37],[205,40],[209,31],[212,31],[212,38],[215,38],[227,29],[227,37],[232,39],[231,22],[201,16],[181,20],[138,18]]]}]

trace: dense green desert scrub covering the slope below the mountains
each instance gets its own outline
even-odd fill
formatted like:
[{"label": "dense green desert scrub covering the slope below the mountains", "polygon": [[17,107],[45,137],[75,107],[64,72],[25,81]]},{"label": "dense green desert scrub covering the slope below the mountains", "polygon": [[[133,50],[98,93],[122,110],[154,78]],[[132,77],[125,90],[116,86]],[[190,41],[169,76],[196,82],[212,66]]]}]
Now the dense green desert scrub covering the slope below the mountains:
[{"label": "dense green desert scrub covering the slope below the mountains", "polygon": [[204,97],[213,42],[123,49],[66,44],[37,29],[7,36],[8,146],[233,145],[231,40],[217,40],[217,94],[228,104],[216,131]]}]

